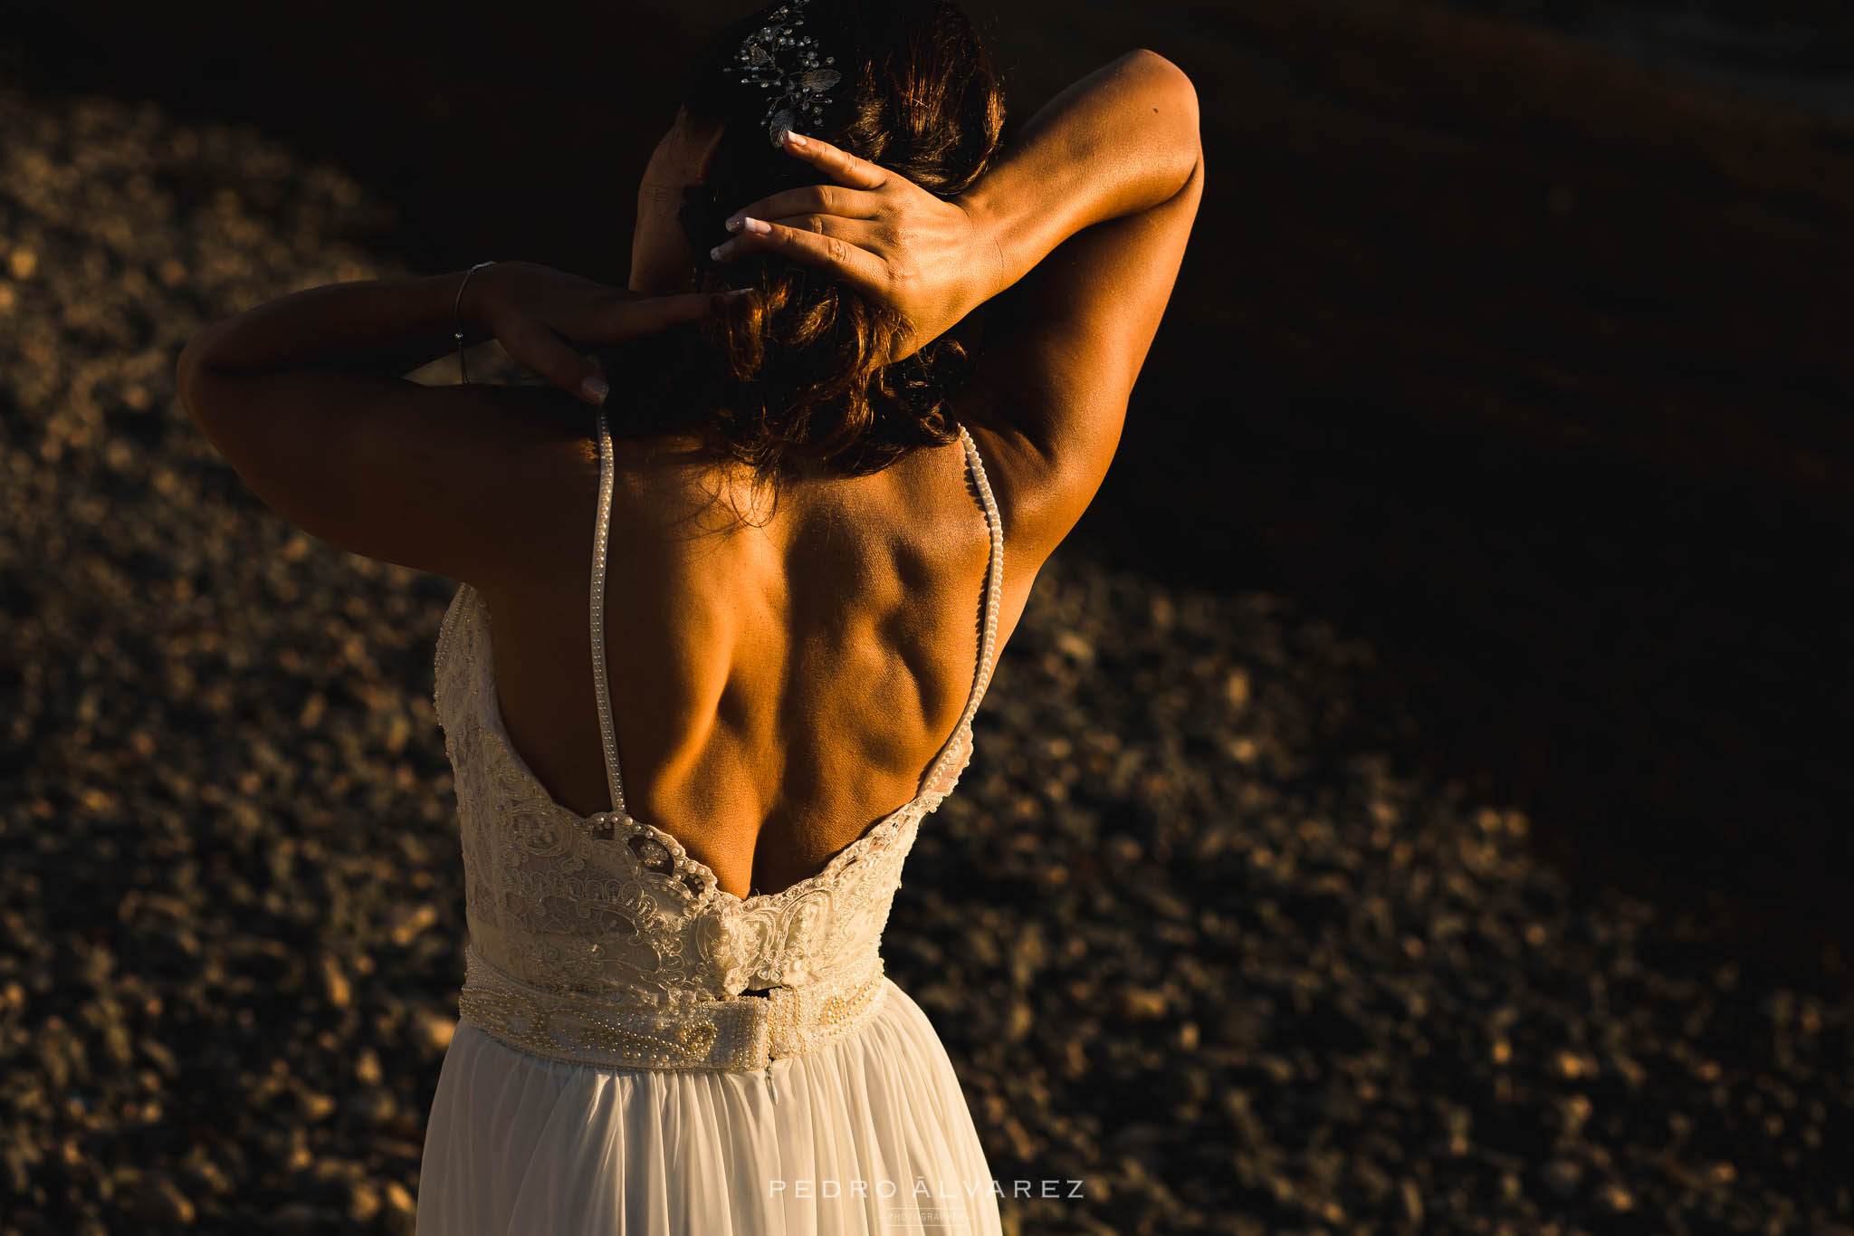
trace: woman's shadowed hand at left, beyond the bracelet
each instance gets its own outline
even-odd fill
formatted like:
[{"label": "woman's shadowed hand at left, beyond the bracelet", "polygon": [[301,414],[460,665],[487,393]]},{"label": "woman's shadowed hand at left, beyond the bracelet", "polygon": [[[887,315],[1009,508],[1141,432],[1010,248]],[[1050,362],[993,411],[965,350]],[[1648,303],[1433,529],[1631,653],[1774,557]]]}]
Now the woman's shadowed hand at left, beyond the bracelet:
[{"label": "woman's shadowed hand at left, beyond the bracelet", "polygon": [[584,350],[699,322],[719,293],[641,296],[536,261],[497,261],[471,276],[458,315],[495,335],[510,358],[593,408],[608,385]]}]

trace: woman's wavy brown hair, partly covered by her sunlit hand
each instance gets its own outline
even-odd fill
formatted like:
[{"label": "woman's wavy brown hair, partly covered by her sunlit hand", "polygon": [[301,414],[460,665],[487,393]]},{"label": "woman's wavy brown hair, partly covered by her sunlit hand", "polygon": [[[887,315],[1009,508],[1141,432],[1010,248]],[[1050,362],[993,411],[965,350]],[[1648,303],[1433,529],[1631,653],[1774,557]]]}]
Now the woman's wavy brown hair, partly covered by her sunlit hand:
[{"label": "woman's wavy brown hair, partly covered by her sunlit hand", "polygon": [[[695,434],[705,454],[738,460],[760,480],[799,460],[845,476],[877,473],[918,447],[957,439],[947,398],[968,371],[942,335],[883,365],[901,315],[829,272],[779,254],[716,263],[723,221],[742,206],[829,178],[773,148],[768,93],[740,82],[734,52],[769,24],[769,6],[721,30],[682,87],[692,119],[725,120],[705,183],[684,189],[679,219],[695,254],[695,289],[756,289],[714,319],[608,350],[638,395],[608,419],[614,435]],[[808,0],[803,32],[842,80],[801,133],[892,169],[940,198],[990,165],[1005,119],[1003,87],[966,13],[951,0]]]}]

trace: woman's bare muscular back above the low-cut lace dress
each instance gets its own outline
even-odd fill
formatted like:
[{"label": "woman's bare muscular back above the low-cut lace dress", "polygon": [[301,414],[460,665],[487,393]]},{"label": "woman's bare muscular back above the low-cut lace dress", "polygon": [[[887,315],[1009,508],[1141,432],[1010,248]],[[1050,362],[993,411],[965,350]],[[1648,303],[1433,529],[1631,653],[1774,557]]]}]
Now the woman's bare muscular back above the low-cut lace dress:
[{"label": "woman's bare muscular back above the low-cut lace dress", "polygon": [[[1005,511],[1007,447],[968,432]],[[990,552],[966,452],[806,476],[771,519],[667,439],[614,439],[614,456],[604,641],[625,810],[725,891],[779,891],[908,802],[959,723]],[[552,539],[551,584],[482,591],[510,739],[556,802],[591,815],[612,806],[588,612],[597,443],[560,484],[584,500]],[[999,647],[1042,565],[1003,524]]]}]

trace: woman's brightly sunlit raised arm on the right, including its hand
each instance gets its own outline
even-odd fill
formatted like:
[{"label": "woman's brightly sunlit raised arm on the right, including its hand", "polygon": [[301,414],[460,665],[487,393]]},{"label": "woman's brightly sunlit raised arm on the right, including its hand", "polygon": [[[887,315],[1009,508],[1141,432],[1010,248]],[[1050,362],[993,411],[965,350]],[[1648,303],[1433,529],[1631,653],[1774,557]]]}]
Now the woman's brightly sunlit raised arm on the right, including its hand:
[{"label": "woman's brightly sunlit raised arm on the right, including its hand", "polygon": [[910,348],[997,296],[975,319],[959,419],[990,435],[1005,526],[1040,561],[1107,476],[1185,259],[1203,195],[1190,78],[1127,52],[1049,100],[951,202],[816,139],[786,150],[836,183],[743,208],[716,258],[764,248],[829,269],[901,309]]}]

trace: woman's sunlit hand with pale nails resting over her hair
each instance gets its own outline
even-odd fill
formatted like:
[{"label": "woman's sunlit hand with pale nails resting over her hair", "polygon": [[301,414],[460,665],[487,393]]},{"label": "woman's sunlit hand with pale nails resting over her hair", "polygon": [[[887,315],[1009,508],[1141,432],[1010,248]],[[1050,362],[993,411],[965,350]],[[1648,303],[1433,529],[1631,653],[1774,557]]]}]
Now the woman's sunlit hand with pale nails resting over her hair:
[{"label": "woman's sunlit hand with pale nails resting over her hair", "polygon": [[1003,250],[971,204],[947,202],[907,176],[818,137],[784,150],[836,183],[782,189],[729,219],[727,261],[775,252],[829,271],[908,321],[888,363],[912,356],[1003,291]]}]

